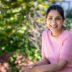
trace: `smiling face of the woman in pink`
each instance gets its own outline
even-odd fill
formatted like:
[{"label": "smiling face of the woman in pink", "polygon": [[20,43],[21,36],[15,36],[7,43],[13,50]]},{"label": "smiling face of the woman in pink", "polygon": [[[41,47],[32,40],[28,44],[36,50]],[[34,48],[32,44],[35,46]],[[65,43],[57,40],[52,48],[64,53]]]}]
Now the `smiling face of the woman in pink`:
[{"label": "smiling face of the woman in pink", "polygon": [[46,19],[47,27],[51,32],[58,32],[62,30],[64,23],[63,18],[57,10],[51,10]]}]

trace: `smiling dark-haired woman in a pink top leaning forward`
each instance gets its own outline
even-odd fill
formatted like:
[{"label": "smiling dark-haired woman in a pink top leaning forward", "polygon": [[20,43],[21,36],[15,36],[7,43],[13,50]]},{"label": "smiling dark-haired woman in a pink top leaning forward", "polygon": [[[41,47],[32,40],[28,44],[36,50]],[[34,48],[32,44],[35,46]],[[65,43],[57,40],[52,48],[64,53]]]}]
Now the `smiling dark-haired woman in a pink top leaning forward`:
[{"label": "smiling dark-haired woman in a pink top leaning forward", "polygon": [[64,28],[64,11],[52,5],[46,12],[48,29],[42,33],[42,60],[26,67],[26,72],[72,72],[72,36]]}]

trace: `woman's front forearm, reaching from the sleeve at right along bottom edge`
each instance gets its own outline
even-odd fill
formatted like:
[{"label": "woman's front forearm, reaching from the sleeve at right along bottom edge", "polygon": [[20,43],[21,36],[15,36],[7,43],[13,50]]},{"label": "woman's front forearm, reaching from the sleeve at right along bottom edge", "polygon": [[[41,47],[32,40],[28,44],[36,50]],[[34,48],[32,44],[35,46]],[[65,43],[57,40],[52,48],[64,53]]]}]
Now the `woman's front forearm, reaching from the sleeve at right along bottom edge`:
[{"label": "woman's front forearm, reaching from the sleeve at right along bottom edge", "polygon": [[60,60],[58,64],[47,64],[36,66],[32,69],[32,72],[58,72],[63,70],[67,66],[66,60]]}]

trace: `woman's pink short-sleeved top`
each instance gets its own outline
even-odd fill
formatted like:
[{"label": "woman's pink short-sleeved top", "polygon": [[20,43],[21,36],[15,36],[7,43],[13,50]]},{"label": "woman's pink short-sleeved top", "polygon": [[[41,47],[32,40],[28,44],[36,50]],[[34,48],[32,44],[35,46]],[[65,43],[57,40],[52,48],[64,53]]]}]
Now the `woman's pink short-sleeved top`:
[{"label": "woman's pink short-sleeved top", "polygon": [[72,72],[72,34],[65,30],[61,35],[53,37],[51,32],[42,33],[42,58],[47,58],[51,64],[56,64],[60,59],[69,63],[59,72]]}]

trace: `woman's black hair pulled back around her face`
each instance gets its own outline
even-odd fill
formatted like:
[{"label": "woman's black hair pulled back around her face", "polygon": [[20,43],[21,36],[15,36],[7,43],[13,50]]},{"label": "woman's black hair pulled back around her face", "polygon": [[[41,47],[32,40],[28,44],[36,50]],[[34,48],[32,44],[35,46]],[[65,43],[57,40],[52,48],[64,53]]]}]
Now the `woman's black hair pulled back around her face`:
[{"label": "woman's black hair pulled back around her face", "polygon": [[59,12],[59,14],[61,15],[62,19],[64,19],[64,10],[63,8],[60,6],[60,5],[51,5],[48,9],[47,9],[47,12],[46,12],[46,18],[48,16],[48,13],[51,11],[51,10],[57,10]]}]

